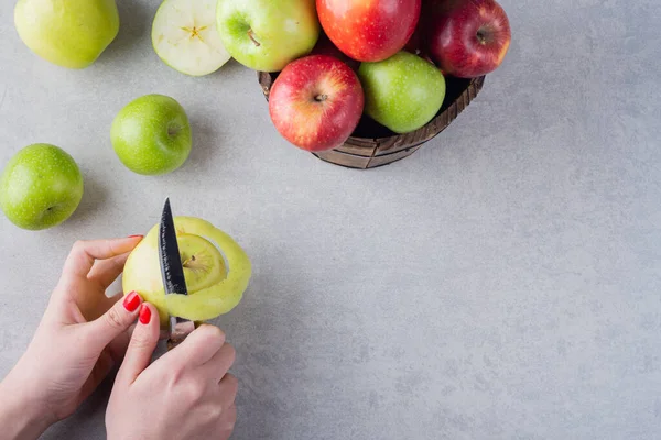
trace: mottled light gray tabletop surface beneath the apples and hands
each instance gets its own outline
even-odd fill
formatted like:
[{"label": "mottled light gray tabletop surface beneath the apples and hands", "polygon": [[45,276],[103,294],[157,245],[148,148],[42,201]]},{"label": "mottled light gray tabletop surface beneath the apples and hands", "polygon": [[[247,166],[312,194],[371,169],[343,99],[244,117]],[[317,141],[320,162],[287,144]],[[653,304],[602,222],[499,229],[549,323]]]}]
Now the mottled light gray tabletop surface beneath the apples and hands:
[{"label": "mottled light gray tabletop surface beneath the apples and hands", "polygon": [[[144,232],[171,196],[254,263],[218,320],[238,351],[235,439],[661,437],[657,0],[502,0],[503,66],[429,146],[371,172],[286,144],[236,63],[197,79],[163,65],[158,1],[119,3],[119,37],[83,72],[28,52],[0,3],[1,163],[51,142],[87,183],[59,228],[0,219],[2,375],[71,244]],[[149,92],[194,124],[191,160],[161,178],[108,138]],[[105,438],[107,391],[45,438]]]}]

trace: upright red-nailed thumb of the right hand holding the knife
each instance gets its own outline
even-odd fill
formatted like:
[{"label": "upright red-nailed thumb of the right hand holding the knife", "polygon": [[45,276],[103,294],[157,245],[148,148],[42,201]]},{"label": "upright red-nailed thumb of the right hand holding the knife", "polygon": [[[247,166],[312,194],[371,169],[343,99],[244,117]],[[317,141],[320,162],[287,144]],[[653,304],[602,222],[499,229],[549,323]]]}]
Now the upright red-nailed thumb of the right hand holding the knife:
[{"label": "upright red-nailed thumb of the right hand holding the knife", "polygon": [[133,330],[129,348],[117,373],[119,383],[132,384],[149,366],[159,343],[159,311],[152,304],[143,302],[140,310],[140,323]]}]

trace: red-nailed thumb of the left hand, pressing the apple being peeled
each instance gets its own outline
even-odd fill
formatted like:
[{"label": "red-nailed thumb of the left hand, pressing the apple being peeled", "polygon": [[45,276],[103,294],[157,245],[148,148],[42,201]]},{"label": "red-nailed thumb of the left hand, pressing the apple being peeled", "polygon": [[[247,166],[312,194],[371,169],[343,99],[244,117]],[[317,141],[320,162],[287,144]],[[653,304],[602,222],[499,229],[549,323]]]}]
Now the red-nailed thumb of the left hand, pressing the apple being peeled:
[{"label": "red-nailed thumb of the left hand, pressing the apple being peeled", "polygon": [[115,338],[127,331],[138,318],[141,302],[140,295],[132,292],[122,301],[115,302],[98,319],[84,324],[89,346],[100,352]]}]

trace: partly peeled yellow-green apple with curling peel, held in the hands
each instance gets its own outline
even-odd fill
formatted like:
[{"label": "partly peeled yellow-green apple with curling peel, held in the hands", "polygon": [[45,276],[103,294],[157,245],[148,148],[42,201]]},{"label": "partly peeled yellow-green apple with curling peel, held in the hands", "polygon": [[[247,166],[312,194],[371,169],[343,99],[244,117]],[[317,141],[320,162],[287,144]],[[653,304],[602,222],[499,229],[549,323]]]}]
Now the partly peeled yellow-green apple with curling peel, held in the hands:
[{"label": "partly peeled yellow-green apple with curling peel, held in the hands", "polygon": [[170,316],[206,321],[232,310],[241,301],[252,272],[246,252],[206,220],[175,217],[174,227],[188,295],[165,295],[158,224],[129,255],[123,271],[123,292],[137,292],[153,304],[163,327]]}]

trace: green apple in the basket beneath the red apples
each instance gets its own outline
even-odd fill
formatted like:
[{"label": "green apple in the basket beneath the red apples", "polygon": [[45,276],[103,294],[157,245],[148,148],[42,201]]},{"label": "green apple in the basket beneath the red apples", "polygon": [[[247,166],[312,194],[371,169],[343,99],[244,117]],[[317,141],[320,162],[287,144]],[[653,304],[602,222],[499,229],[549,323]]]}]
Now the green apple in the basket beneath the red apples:
[{"label": "green apple in the basket beneath the red apples", "polygon": [[430,122],[445,100],[445,77],[432,63],[401,51],[381,62],[362,63],[365,113],[395,133]]}]

